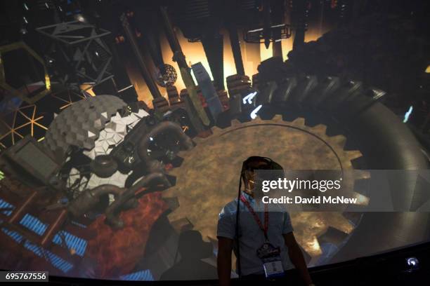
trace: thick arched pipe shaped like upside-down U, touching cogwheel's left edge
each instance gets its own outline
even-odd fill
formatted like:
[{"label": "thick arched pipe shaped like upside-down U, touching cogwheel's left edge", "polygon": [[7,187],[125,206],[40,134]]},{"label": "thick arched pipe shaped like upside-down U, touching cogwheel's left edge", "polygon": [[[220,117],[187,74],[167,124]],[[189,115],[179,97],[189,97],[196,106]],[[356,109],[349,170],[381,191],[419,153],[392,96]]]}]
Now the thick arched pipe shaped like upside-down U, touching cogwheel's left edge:
[{"label": "thick arched pipe shaped like upside-down U, touching cogwheel's left edge", "polygon": [[162,165],[159,161],[151,159],[148,155],[148,147],[151,142],[151,138],[155,138],[158,134],[163,132],[169,133],[169,135],[176,137],[180,147],[183,147],[184,149],[192,149],[194,146],[190,137],[185,135],[183,132],[181,125],[170,121],[159,123],[152,130],[150,130],[150,132],[148,132],[145,137],[141,139],[137,149],[138,155],[145,163],[145,167],[147,168],[148,172],[162,172],[164,169],[162,168]]}]

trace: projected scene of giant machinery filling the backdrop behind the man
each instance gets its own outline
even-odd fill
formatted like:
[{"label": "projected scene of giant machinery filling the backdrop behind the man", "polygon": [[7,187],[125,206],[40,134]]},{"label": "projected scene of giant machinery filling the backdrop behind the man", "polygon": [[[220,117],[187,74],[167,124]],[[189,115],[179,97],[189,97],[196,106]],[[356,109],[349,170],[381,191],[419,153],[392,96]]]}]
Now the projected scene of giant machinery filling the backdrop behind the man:
[{"label": "projected scene of giant machinery filling the backdrop behind the man", "polygon": [[1,269],[218,279],[250,156],[363,170],[342,182],[354,211],[289,212],[309,268],[429,240],[425,178],[390,181],[405,212],[365,211],[367,170],[429,169],[421,6],[209,2],[0,4],[20,19],[0,46]]}]

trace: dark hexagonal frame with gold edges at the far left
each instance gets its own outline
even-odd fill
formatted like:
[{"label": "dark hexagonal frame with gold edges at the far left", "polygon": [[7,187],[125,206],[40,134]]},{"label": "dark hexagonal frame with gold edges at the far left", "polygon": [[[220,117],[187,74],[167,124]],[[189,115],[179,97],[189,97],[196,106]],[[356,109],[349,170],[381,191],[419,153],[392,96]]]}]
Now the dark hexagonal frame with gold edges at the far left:
[{"label": "dark hexagonal frame with gold edges at the far left", "polygon": [[[32,62],[28,64],[29,67],[34,68],[34,64],[39,64],[41,67],[41,78],[34,79],[34,84],[27,86],[24,83],[22,86],[17,86],[11,83],[9,80],[13,79],[13,76],[8,76],[8,65],[17,64],[16,62],[8,62],[6,60],[6,55],[8,53],[17,53],[19,50],[24,50],[25,53],[31,56]],[[23,70],[22,72],[25,72]],[[46,69],[44,60],[42,60],[39,55],[37,55],[34,50],[32,50],[29,46],[27,46],[24,42],[11,43],[6,46],[0,46],[0,88],[6,90],[9,94],[8,97],[19,97],[21,100],[24,100],[28,104],[33,104],[40,100],[42,97],[47,95],[51,90],[51,81],[48,76],[48,70]]]}]

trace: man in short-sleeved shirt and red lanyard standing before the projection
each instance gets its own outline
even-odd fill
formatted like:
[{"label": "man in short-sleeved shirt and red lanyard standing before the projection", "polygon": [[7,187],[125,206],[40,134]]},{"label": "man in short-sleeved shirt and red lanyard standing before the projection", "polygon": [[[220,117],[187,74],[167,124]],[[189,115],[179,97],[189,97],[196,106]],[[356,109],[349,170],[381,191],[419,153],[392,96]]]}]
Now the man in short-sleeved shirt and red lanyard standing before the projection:
[{"label": "man in short-sleeved shirt and red lanyard standing before the projection", "polygon": [[[219,214],[217,264],[221,286],[230,285],[232,250],[237,257],[237,274],[242,279],[252,279],[254,282],[262,278],[273,280],[284,275],[283,271],[294,264],[304,285],[313,285],[303,254],[294,238],[289,214],[269,213],[266,208],[264,212],[254,211],[261,210],[259,204],[263,204],[263,192],[256,186],[254,170],[270,170],[273,166],[282,169],[266,157],[252,156],[244,161],[241,180],[245,184],[245,191],[239,190],[239,203],[237,199],[233,200]],[[240,210],[238,216],[237,206]],[[266,255],[263,250],[267,249],[271,250],[271,254]],[[281,279],[290,281],[291,277],[285,275]]]}]

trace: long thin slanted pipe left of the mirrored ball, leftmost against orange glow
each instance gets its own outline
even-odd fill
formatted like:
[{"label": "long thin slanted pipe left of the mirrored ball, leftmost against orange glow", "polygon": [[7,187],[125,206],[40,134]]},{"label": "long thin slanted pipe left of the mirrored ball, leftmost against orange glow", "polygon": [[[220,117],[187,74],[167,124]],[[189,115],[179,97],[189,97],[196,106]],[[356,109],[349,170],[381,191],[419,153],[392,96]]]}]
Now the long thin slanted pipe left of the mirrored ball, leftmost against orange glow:
[{"label": "long thin slanted pipe left of the mirrored ball, leftmost against orange glow", "polygon": [[143,59],[143,55],[141,54],[141,50],[138,47],[138,43],[136,41],[136,38],[134,37],[134,34],[130,29],[129,20],[127,19],[125,14],[122,14],[120,19],[122,22],[122,26],[124,27],[124,31],[126,33],[126,36],[130,41],[131,48],[133,49],[134,55],[136,55],[137,60],[138,60],[138,64],[141,67],[143,79],[145,79],[145,82],[148,85],[148,88],[150,90],[152,97],[154,99],[162,97],[162,95],[159,92],[159,89],[157,87],[157,84],[155,83],[154,79],[152,79],[152,76],[150,74],[150,71],[149,71],[146,63],[145,63],[145,60]]}]

